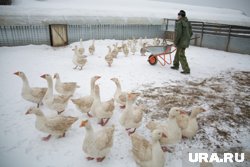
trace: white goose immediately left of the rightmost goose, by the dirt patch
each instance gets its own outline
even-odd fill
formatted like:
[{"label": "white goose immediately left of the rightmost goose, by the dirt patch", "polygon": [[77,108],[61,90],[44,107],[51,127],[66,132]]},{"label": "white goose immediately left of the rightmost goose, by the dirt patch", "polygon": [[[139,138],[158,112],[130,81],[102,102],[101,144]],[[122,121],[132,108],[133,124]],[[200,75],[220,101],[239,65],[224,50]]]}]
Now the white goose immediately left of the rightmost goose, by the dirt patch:
[{"label": "white goose immediately left of the rightmost goose, by the dirt patch", "polygon": [[150,121],[146,125],[146,127],[151,131],[159,129],[168,136],[167,138],[160,139],[162,149],[164,152],[170,151],[165,145],[172,145],[181,141],[182,133],[176,121],[176,117],[180,114],[180,112],[181,112],[180,108],[172,107],[169,111],[169,116],[166,123],[160,124],[157,122]]}]

